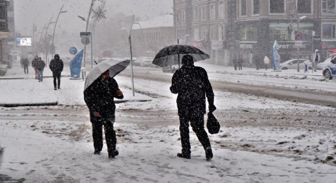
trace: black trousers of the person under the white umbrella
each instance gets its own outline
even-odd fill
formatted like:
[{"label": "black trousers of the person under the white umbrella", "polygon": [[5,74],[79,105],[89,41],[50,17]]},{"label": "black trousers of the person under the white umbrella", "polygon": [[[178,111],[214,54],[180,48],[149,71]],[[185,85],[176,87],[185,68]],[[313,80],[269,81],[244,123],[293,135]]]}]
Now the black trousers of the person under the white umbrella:
[{"label": "black trousers of the person under the white umbrella", "polygon": [[117,138],[116,132],[113,129],[114,121],[115,119],[103,119],[101,117],[95,117],[94,120],[91,120],[93,146],[95,150],[101,151],[103,148],[103,126],[107,151],[112,152],[116,150]]}]

